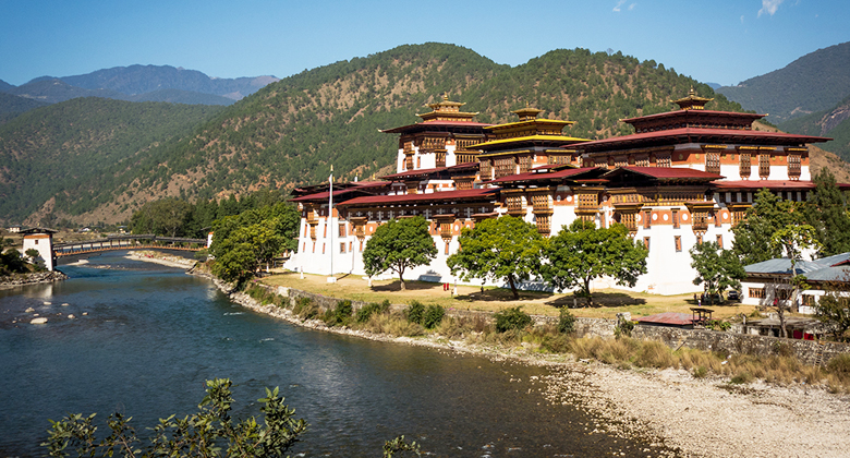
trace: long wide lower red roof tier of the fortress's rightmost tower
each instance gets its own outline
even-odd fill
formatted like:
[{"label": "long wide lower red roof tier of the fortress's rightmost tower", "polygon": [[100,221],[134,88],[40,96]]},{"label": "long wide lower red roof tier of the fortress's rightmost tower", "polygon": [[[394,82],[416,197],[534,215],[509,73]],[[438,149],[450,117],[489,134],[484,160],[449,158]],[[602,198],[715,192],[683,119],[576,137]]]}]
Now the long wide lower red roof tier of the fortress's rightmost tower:
[{"label": "long wide lower red roof tier of the fortress's rightmost tower", "polygon": [[[714,137],[726,137],[726,138],[739,140],[739,141],[742,138],[751,138],[760,142],[764,142],[766,140],[774,140],[776,142],[781,142],[781,143],[817,143],[817,142],[828,142],[833,140],[823,136],[798,135],[798,134],[789,134],[785,132],[745,131],[745,130],[733,130],[733,129],[682,128],[682,129],[669,129],[666,131],[644,132],[644,133],[631,134],[631,135],[612,136],[610,138],[605,138],[605,140],[594,140],[593,142],[569,145],[569,148],[602,149],[603,147],[611,147],[614,145],[620,145],[620,144],[627,145],[633,143],[642,143],[649,140],[673,141],[678,137],[689,137],[689,136],[714,136]],[[566,148],[568,146],[563,146],[563,147]]]}]

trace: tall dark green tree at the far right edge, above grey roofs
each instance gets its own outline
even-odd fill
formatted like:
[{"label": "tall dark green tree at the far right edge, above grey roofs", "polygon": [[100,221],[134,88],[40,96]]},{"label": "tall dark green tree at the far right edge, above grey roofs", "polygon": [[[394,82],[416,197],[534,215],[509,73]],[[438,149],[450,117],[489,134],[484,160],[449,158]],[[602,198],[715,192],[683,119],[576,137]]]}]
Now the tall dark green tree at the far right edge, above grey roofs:
[{"label": "tall dark green tree at the far right edge, above grey roofs", "polygon": [[803,205],[805,220],[817,231],[823,244],[822,256],[850,251],[850,214],[847,196],[836,184],[835,177],[824,167],[814,178],[817,188]]}]

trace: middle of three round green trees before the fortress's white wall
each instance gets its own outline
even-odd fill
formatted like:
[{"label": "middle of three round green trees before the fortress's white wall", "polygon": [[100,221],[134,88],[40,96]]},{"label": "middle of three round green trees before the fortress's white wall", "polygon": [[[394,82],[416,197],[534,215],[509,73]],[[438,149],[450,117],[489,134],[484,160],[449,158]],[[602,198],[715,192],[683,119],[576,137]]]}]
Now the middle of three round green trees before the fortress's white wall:
[{"label": "middle of three round green trees before the fortress's white wall", "polygon": [[466,281],[507,280],[513,299],[520,298],[518,284],[541,272],[543,237],[521,218],[485,219],[473,229],[464,228],[458,241],[461,249],[446,260],[452,275]]}]

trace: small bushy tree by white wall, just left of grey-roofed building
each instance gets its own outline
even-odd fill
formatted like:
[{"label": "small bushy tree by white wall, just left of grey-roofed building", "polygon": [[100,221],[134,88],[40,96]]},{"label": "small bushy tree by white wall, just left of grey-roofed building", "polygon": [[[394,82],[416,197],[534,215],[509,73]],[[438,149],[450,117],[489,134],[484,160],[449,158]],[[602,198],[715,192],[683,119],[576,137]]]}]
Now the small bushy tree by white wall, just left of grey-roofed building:
[{"label": "small bushy tree by white wall, just left of grey-roofed building", "polygon": [[731,250],[724,250],[715,242],[697,243],[691,249],[691,267],[696,269],[694,285],[705,285],[708,298],[728,288],[738,289],[746,276],[741,262]]}]

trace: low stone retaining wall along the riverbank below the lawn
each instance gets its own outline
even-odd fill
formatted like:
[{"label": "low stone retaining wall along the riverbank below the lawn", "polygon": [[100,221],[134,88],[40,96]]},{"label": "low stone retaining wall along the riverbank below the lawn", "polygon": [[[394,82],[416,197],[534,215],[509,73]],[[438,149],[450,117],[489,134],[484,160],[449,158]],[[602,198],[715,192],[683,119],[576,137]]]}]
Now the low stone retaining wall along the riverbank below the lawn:
[{"label": "low stone retaining wall along the riverbank below the lawn", "polygon": [[[288,298],[289,304],[294,305],[299,298],[308,298],[324,313],[327,310],[336,309],[337,303],[343,299],[330,298],[327,296],[315,294],[307,291],[287,287],[269,287],[262,285],[269,291]],[[366,305],[366,302],[351,301],[352,308],[356,311]],[[402,311],[406,304],[392,304],[391,309]],[[446,314],[456,317],[481,318],[487,322],[493,321],[491,312],[469,311],[469,310],[447,310]],[[558,324],[557,316],[533,315],[535,325]],[[616,320],[603,318],[575,318],[575,334],[579,337],[602,337],[614,338],[617,328]],[[693,348],[705,351],[718,351],[725,353],[745,353],[755,355],[767,354],[793,354],[800,361],[806,364],[826,363],[831,358],[850,353],[850,345],[837,342],[817,342],[814,340],[782,339],[779,337],[754,336],[749,334],[724,333],[708,329],[682,329],[666,326],[646,326],[635,325],[632,330],[632,337],[642,340],[659,340],[670,348]],[[818,353],[821,354],[818,361]]]}]

